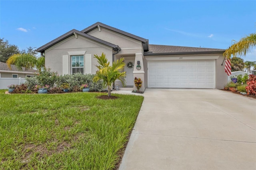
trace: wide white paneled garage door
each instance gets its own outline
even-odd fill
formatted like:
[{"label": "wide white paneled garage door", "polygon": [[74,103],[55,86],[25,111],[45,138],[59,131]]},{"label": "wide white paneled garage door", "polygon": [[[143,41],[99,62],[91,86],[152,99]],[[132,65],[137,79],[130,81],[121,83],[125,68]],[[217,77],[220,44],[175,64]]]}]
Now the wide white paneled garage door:
[{"label": "wide white paneled garage door", "polygon": [[215,60],[148,61],[149,88],[215,88]]}]

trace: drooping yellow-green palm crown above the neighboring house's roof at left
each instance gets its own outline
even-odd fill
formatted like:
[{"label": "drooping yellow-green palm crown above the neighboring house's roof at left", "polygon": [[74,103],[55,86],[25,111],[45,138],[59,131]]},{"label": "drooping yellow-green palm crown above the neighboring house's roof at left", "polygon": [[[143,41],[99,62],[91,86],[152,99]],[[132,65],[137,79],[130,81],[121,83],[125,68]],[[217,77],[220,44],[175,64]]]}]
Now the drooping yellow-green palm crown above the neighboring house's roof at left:
[{"label": "drooping yellow-green palm crown above the neighboring house's roof at left", "polygon": [[14,64],[18,70],[22,71],[22,67],[27,69],[33,69],[36,67],[38,71],[41,71],[44,68],[44,57],[36,57],[29,53],[23,54],[14,54],[9,57],[6,61],[8,67],[11,69],[11,64]]}]

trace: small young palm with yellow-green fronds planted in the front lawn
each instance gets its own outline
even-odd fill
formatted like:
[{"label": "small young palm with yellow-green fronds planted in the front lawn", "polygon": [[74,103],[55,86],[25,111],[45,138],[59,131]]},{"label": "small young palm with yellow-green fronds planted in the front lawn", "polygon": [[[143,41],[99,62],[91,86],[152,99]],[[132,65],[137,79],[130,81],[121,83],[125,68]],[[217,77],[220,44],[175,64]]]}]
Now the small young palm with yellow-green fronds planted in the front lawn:
[{"label": "small young palm with yellow-green fronds planted in the front lawn", "polygon": [[96,65],[96,67],[99,70],[96,72],[93,81],[97,82],[99,80],[103,80],[104,86],[108,87],[108,97],[110,97],[111,89],[117,79],[121,81],[123,86],[125,86],[124,77],[126,76],[126,72],[120,72],[124,70],[124,58],[121,57],[120,60],[117,59],[112,63],[112,66],[110,66],[110,63],[108,59],[106,59],[106,55],[104,53],[102,53],[101,56],[94,55],[94,58],[98,60],[99,65]]}]

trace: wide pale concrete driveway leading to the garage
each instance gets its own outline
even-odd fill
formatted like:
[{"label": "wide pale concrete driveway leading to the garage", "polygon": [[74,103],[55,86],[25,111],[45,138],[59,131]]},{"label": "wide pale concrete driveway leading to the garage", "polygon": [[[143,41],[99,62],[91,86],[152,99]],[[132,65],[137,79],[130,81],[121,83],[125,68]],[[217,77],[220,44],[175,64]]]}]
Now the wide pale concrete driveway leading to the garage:
[{"label": "wide pale concrete driveway leading to the garage", "polygon": [[119,170],[255,170],[256,99],[146,89]]}]

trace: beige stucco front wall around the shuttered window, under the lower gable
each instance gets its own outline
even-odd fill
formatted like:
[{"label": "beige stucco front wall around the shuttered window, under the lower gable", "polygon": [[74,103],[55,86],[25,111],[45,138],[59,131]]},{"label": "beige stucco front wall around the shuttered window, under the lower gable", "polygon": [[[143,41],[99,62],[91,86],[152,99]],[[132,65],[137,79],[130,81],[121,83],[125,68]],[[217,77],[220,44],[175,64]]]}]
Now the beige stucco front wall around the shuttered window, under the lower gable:
[{"label": "beige stucco front wall around the shuttered window, under the lower gable", "polygon": [[[92,42],[82,36],[78,38],[67,38],[66,40],[54,45],[53,47],[45,51],[45,65],[46,68],[51,68],[52,71],[57,71],[58,74],[62,75],[63,72],[63,61],[62,57],[68,55],[68,73],[71,73],[71,58],[69,52],[76,51],[77,55],[84,55],[84,65],[85,55],[92,55],[92,74],[96,73],[97,68],[95,65],[98,65],[98,62],[94,58],[94,54],[101,55],[102,52],[106,54],[106,57],[110,63],[112,63],[112,48],[107,45],[100,43]],[[79,51],[81,53],[79,53]],[[86,51],[84,53],[84,51]],[[85,69],[84,69],[85,70]]]}]

